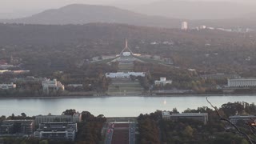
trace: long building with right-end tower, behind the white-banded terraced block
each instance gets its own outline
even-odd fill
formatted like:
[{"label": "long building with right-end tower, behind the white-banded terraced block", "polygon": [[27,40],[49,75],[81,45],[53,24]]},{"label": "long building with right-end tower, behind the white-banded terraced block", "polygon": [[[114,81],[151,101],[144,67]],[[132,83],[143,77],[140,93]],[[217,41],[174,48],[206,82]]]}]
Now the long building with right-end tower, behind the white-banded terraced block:
[{"label": "long building with right-end tower, behind the white-banded terraced block", "polygon": [[82,114],[75,113],[74,115],[38,115],[35,117],[35,125],[44,122],[82,122]]}]

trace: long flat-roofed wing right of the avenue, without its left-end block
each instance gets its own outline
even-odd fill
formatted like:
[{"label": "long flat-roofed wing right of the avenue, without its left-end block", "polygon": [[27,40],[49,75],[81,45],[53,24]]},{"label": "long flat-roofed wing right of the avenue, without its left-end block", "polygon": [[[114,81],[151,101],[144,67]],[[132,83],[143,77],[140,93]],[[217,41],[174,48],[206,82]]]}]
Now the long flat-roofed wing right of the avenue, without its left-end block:
[{"label": "long flat-roofed wing right of the avenue, without its left-end block", "polygon": [[203,122],[205,125],[208,122],[208,113],[182,113],[182,114],[171,114],[170,120],[177,122],[180,118],[189,118]]}]

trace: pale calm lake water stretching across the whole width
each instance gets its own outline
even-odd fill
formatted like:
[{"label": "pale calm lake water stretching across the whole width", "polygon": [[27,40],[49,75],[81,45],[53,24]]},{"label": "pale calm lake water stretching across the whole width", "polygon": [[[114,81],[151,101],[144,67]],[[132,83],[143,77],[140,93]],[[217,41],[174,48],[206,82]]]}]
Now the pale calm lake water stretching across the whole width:
[{"label": "pale calm lake water stretching across the whole width", "polygon": [[[218,107],[226,102],[256,102],[255,95],[208,96],[208,99]],[[182,112],[201,106],[210,107],[205,96],[0,99],[0,115],[62,114],[66,109],[75,109],[79,112],[90,111],[94,115],[104,114],[106,117],[137,117],[155,110],[173,110],[176,107]]]}]

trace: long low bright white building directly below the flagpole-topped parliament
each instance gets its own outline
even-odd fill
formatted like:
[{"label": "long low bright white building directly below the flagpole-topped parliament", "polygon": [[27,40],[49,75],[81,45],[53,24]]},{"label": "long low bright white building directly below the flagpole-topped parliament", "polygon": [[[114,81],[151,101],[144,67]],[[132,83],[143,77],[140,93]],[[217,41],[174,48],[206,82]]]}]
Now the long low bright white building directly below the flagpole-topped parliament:
[{"label": "long low bright white building directly below the flagpole-topped parliament", "polygon": [[145,77],[144,72],[117,72],[117,73],[106,73],[106,78],[130,78],[130,75],[138,77]]}]

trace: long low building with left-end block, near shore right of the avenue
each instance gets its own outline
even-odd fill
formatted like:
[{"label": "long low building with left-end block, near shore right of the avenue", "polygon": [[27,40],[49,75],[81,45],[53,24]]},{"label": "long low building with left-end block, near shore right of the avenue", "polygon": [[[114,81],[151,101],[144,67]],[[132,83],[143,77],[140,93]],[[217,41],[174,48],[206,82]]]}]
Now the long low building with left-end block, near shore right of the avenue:
[{"label": "long low building with left-end block, near shore right of the avenue", "polygon": [[169,111],[162,111],[162,118],[168,121],[178,122],[178,119],[187,118],[203,122],[205,125],[208,122],[208,113],[182,113],[170,114]]}]

